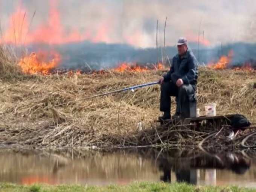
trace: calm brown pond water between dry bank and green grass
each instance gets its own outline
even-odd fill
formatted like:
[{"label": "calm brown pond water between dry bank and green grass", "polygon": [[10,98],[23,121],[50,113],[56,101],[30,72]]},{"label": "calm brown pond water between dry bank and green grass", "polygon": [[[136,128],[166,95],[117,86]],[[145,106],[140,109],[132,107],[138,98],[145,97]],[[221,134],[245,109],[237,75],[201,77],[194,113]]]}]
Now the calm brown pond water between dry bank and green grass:
[{"label": "calm brown pond water between dry bank and green grass", "polygon": [[255,154],[146,148],[112,152],[0,149],[0,181],[88,185],[184,181],[256,187]]}]

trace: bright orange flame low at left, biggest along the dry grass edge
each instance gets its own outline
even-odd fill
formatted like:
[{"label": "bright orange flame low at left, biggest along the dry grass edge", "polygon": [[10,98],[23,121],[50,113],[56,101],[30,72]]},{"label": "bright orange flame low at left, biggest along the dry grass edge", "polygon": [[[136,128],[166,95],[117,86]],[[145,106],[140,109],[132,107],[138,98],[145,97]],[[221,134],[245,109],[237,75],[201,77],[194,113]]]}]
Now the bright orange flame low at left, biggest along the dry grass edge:
[{"label": "bright orange flame low at left, biggest along the dry grass edge", "polygon": [[58,66],[61,61],[61,57],[58,53],[53,53],[53,59],[49,62],[46,62],[46,55],[48,53],[31,53],[29,56],[25,56],[20,60],[18,65],[21,67],[21,70],[27,74],[36,74],[41,73],[47,75],[52,69]]}]

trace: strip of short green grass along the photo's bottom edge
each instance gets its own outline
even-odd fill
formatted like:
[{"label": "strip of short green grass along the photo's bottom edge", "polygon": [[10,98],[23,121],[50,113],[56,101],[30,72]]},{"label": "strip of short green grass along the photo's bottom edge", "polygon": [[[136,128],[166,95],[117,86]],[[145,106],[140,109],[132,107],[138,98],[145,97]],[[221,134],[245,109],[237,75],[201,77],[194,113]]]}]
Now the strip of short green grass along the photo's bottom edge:
[{"label": "strip of short green grass along the photo's bottom edge", "polygon": [[15,184],[0,184],[0,191],[4,192],[253,192],[256,189],[239,188],[236,186],[213,187],[213,186],[192,186],[186,183],[133,183],[125,186],[79,186],[59,185],[49,186],[36,184],[32,186],[20,186]]}]

